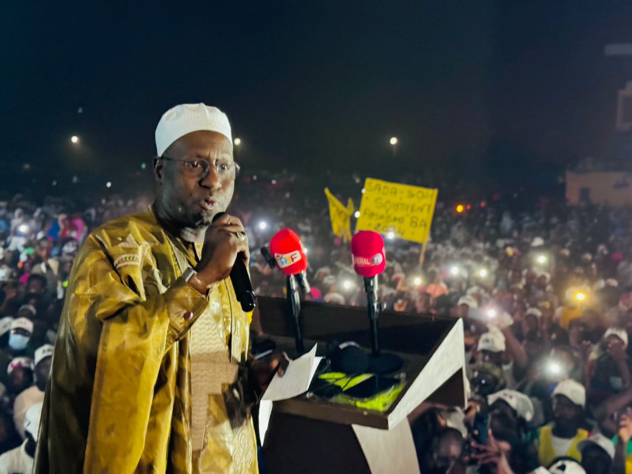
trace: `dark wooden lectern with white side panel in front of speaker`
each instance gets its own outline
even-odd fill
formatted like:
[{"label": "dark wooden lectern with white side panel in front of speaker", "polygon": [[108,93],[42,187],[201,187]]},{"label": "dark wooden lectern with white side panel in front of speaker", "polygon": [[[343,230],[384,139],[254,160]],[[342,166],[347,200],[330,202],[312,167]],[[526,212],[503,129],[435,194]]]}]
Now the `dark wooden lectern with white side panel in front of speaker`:
[{"label": "dark wooden lectern with white side panel in front of speaker", "polygon": [[[294,346],[294,327],[281,298],[258,298],[253,327],[279,348]],[[305,348],[356,341],[370,347],[367,308],[305,301]],[[423,401],[465,406],[465,351],[460,319],[382,312],[380,349],[404,360],[406,385],[385,411],[331,403],[308,395],[274,402],[263,452],[267,474],[416,474],[407,416]],[[367,349],[370,353],[370,349]]]}]

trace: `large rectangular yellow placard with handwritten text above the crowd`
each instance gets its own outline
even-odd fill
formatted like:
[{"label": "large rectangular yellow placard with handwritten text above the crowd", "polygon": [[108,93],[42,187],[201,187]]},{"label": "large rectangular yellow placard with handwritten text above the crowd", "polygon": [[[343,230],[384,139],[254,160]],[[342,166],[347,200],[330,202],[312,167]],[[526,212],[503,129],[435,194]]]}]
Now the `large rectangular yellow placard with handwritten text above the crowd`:
[{"label": "large rectangular yellow placard with handwritten text above the crowd", "polygon": [[356,228],[425,243],[430,233],[437,190],[367,178]]}]

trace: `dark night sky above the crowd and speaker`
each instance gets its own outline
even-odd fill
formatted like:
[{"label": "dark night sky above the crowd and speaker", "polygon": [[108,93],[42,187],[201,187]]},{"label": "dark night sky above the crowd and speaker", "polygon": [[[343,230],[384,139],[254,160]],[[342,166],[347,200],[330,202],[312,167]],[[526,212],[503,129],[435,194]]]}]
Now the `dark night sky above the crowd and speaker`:
[{"label": "dark night sky above the crowd and speaker", "polygon": [[524,179],[599,154],[632,78],[604,56],[629,1],[158,5],[3,4],[0,186],[138,169],[182,102],[228,114],[245,169]]}]

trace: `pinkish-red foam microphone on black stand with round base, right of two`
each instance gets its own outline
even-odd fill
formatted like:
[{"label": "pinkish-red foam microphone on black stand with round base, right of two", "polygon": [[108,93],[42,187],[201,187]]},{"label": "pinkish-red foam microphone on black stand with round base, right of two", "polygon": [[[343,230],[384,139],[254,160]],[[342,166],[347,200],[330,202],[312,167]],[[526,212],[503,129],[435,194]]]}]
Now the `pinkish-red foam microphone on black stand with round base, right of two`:
[{"label": "pinkish-red foam microphone on black stand with round base, right of two", "polygon": [[377,298],[377,276],[386,268],[384,239],[374,231],[360,231],[351,239],[353,269],[364,277],[364,289],[367,293],[368,321],[371,331],[371,357],[369,368],[376,374],[389,374],[398,370],[403,362],[394,354],[380,354],[377,331],[377,318],[382,305]]}]

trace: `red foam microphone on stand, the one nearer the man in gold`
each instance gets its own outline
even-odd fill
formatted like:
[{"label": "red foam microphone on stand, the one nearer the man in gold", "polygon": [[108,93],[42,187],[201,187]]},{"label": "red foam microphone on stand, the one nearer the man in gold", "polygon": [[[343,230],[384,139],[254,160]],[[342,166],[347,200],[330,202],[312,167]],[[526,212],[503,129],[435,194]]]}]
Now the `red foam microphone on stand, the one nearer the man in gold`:
[{"label": "red foam microphone on stand, the one nearer the man in gold", "polygon": [[[267,249],[265,248],[261,249],[264,257],[266,257],[266,251]],[[274,256],[276,266],[287,277],[288,310],[295,326],[296,351],[303,353],[305,345],[303,344],[303,335],[301,334],[301,326],[298,321],[298,315],[301,312],[298,287],[300,286],[303,293],[309,293],[310,291],[310,286],[305,276],[305,270],[307,270],[305,249],[294,231],[281,229],[270,239],[270,252],[268,253]]]}]

